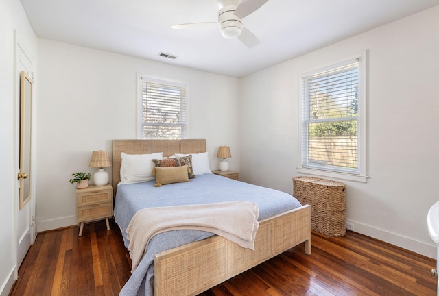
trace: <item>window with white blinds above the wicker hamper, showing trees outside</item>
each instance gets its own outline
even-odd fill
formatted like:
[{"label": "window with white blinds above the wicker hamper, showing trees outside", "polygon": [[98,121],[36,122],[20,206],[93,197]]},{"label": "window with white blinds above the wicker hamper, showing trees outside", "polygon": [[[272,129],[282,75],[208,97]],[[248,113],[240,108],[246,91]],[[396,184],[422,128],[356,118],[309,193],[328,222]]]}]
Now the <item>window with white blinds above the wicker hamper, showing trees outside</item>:
[{"label": "window with white blinds above the wicker hamper, showing trees outside", "polygon": [[362,64],[364,56],[301,75],[299,172],[366,180]]}]

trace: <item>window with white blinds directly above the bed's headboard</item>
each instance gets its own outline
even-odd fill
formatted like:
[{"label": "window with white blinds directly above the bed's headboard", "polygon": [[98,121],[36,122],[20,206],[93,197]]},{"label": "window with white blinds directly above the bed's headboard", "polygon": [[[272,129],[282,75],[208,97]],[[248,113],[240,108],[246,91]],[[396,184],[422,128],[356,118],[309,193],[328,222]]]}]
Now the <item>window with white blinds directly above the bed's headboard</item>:
[{"label": "window with white blinds directly above the bed's headboard", "polygon": [[144,139],[181,139],[186,132],[186,85],[141,77]]}]

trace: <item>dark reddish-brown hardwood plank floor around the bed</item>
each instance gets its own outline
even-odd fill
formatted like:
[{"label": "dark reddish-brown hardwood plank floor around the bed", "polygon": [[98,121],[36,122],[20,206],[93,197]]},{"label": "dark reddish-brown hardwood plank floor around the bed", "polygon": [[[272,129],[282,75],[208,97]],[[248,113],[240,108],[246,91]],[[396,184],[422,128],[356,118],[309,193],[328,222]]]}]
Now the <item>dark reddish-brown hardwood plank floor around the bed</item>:
[{"label": "dark reddish-brown hardwood plank floor around the bed", "polygon": [[[110,220],[38,234],[10,295],[119,295],[130,277],[128,252]],[[303,244],[219,284],[202,296],[436,295],[436,260],[349,232],[313,232]]]}]

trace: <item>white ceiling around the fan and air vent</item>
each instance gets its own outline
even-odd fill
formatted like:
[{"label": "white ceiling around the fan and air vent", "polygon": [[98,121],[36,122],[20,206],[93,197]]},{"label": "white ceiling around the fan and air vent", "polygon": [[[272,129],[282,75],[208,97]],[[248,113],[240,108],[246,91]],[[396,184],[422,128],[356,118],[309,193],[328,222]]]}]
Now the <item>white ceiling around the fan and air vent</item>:
[{"label": "white ceiling around the fan and air vent", "polygon": [[[246,0],[243,0],[246,1]],[[216,0],[21,0],[34,32],[192,69],[244,77],[269,66],[439,5],[439,0],[270,0],[243,19],[261,43],[248,49],[219,28]],[[159,53],[178,56],[175,60]]]}]

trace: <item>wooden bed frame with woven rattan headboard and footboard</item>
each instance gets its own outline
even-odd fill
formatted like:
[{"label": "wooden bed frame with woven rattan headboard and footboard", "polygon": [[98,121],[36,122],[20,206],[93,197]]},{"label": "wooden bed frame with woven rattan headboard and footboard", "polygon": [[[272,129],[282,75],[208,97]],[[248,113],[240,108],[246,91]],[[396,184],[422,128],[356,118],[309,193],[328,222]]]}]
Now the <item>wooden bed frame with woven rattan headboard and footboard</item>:
[{"label": "wooden bed frame with woven rattan headboard and footboard", "polygon": [[[206,140],[113,140],[114,188],[120,181],[121,152],[162,151],[163,156],[202,153]],[[154,295],[198,295],[300,243],[305,243],[305,253],[311,254],[310,212],[305,205],[259,221],[254,251],[222,236],[211,236],[156,254]]]}]

